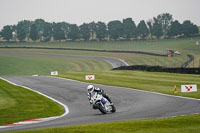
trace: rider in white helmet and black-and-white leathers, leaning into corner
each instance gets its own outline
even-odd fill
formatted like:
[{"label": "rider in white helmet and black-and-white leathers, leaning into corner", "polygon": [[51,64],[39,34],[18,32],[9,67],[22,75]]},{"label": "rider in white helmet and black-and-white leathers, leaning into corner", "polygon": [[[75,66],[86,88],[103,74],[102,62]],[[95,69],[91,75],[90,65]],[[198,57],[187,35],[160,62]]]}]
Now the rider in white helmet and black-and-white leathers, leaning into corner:
[{"label": "rider in white helmet and black-and-white leathers, leaning into corner", "polygon": [[102,94],[102,96],[105,97],[110,102],[110,104],[113,104],[111,102],[111,99],[108,97],[108,94],[104,93],[104,90],[96,88],[96,87],[94,87],[94,85],[88,85],[87,90],[88,90],[88,99],[90,101],[90,104],[92,104],[92,100],[91,100],[91,93],[92,92],[96,92],[98,94]]}]

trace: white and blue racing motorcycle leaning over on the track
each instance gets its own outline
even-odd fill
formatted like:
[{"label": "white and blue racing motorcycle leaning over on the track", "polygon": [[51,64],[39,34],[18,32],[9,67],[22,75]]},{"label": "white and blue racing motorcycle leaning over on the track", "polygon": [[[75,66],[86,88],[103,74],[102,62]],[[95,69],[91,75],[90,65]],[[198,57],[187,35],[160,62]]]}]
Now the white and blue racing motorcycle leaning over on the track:
[{"label": "white and blue racing motorcycle leaning over on the track", "polygon": [[91,96],[91,101],[93,105],[93,109],[99,109],[102,114],[106,114],[108,112],[114,113],[116,112],[116,108],[114,104],[110,103],[105,97],[101,94],[94,93]]}]

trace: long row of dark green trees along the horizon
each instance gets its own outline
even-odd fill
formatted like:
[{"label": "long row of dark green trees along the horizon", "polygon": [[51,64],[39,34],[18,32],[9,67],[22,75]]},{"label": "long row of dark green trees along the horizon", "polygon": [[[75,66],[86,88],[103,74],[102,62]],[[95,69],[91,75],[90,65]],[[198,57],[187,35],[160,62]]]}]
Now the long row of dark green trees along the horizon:
[{"label": "long row of dark green trees along the horizon", "polygon": [[67,22],[49,23],[43,19],[35,21],[23,20],[17,25],[6,25],[0,31],[0,37],[6,41],[106,41],[106,40],[137,40],[137,39],[168,39],[192,37],[199,34],[197,25],[190,20],[180,23],[169,13],[159,14],[138,25],[132,18],[122,21],[91,22],[70,24]]}]

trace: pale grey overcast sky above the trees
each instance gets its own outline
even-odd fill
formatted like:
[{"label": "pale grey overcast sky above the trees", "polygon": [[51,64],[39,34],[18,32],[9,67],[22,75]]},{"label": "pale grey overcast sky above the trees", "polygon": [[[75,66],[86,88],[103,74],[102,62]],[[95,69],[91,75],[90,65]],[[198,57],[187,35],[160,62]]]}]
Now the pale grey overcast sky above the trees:
[{"label": "pale grey overcast sky above the trees", "polygon": [[131,17],[138,24],[166,12],[200,26],[199,5],[200,0],[0,0],[0,29],[37,18],[80,25]]}]

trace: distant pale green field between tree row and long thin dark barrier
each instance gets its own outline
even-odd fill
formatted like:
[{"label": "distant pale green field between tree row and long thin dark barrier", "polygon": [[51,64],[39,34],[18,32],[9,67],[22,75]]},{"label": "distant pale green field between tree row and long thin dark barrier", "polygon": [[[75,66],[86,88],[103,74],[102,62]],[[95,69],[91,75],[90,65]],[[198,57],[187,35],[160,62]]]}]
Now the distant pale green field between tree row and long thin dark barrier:
[{"label": "distant pale green field between tree row and long thin dark barrier", "polygon": [[[23,43],[23,44],[1,44],[0,46],[17,47],[51,47],[51,48],[77,48],[77,49],[99,49],[99,50],[128,50],[128,51],[152,51],[162,53],[166,49],[177,48],[193,49],[196,41],[200,39],[183,40],[161,40],[161,41],[130,41],[130,42],[52,42],[52,43]],[[193,47],[191,47],[193,46]]]}]

